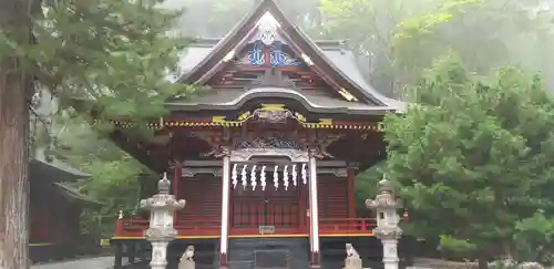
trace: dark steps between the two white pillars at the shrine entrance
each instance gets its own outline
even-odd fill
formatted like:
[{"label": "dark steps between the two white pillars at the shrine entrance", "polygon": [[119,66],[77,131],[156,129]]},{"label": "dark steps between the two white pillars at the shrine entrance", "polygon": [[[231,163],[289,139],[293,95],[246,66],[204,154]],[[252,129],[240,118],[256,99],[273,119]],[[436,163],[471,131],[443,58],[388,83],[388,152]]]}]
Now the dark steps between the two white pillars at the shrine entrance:
[{"label": "dark steps between the two white pillars at the shrine entrance", "polygon": [[309,257],[308,238],[229,239],[229,269],[306,269],[309,268]]}]

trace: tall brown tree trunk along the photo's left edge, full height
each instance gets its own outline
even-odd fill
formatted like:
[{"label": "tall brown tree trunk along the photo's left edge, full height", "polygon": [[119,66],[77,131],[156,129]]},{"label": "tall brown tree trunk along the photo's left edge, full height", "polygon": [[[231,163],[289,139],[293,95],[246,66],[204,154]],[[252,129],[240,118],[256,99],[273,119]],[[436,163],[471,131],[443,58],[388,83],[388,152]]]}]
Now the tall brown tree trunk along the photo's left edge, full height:
[{"label": "tall brown tree trunk along the photo's left edge, full height", "polygon": [[[29,8],[25,0],[0,1],[0,30],[23,45],[31,41]],[[32,76],[21,59],[6,52],[0,52],[0,269],[28,269],[27,96]]]}]

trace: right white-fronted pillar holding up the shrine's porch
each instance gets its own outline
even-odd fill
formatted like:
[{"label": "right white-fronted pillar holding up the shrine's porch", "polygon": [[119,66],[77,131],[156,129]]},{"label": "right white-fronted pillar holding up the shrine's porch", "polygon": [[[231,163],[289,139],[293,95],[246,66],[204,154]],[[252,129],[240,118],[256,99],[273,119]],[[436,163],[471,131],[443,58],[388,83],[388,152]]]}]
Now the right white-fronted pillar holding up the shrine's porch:
[{"label": "right white-fronted pillar holding up the shrine's porch", "polygon": [[309,206],[310,206],[310,268],[320,268],[321,257],[319,252],[319,211],[317,195],[317,159],[315,152],[309,155]]}]

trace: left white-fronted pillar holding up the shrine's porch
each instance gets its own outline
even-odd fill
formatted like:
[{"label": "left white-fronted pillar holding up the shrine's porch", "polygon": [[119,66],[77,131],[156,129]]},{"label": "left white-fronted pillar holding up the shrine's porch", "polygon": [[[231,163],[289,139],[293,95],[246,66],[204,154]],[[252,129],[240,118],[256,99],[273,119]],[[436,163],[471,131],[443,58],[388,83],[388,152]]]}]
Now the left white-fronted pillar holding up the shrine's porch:
[{"label": "left white-fronted pillar holding up the shrine's porch", "polygon": [[219,241],[219,268],[228,267],[228,223],[229,223],[229,190],[230,190],[230,156],[226,148],[223,156],[222,172],[222,237]]}]

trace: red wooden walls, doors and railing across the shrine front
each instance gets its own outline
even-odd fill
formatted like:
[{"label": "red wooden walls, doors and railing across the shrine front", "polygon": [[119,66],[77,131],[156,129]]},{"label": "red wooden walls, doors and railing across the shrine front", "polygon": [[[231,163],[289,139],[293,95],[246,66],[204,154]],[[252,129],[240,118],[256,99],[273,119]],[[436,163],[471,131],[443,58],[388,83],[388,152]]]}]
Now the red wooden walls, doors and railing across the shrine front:
[{"label": "red wooden walls, doors and railing across the shrine front", "polygon": [[[266,178],[271,178],[268,175]],[[175,228],[179,236],[219,236],[222,182],[213,176],[182,178],[178,196],[187,200],[186,210],[177,214]],[[268,180],[271,182],[271,180]],[[375,219],[350,217],[351,197],[348,178],[319,176],[319,231],[320,235],[360,235],[371,232]],[[258,235],[259,225],[275,225],[276,235],[308,235],[307,187],[289,186],[266,190],[238,186],[230,190],[229,235]],[[267,200],[267,204],[266,204]],[[146,219],[119,221],[116,236],[143,236],[148,227]]]}]

